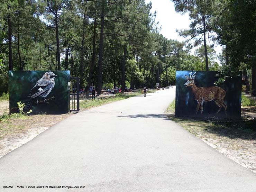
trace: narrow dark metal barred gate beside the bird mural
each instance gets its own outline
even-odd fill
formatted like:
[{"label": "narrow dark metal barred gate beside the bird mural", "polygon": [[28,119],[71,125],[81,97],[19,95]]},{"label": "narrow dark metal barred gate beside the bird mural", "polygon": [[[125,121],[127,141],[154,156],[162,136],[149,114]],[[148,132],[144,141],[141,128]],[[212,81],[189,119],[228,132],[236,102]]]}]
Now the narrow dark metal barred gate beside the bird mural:
[{"label": "narrow dark metal barred gate beside the bird mural", "polygon": [[70,111],[79,111],[79,91],[80,83],[79,77],[70,77]]}]

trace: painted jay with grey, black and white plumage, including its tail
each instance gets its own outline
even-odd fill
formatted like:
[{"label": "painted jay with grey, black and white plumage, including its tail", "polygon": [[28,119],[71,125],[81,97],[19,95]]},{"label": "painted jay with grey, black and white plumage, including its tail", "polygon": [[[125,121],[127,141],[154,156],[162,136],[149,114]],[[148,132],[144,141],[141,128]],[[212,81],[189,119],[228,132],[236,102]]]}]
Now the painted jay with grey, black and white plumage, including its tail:
[{"label": "painted jay with grey, black and white plumage, including its tail", "polygon": [[38,97],[43,97],[44,101],[46,100],[45,97],[52,91],[54,88],[55,82],[54,77],[57,77],[53,72],[48,71],[46,72],[41,79],[39,79],[35,86],[30,90],[28,94],[28,98],[30,99],[27,103],[25,110],[29,111],[35,99]]}]

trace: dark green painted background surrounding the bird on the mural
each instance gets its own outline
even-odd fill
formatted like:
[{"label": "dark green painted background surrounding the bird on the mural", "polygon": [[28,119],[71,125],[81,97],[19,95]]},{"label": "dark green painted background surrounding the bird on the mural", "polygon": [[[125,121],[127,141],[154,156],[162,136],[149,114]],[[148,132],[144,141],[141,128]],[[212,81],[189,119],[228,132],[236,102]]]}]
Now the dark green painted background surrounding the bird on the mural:
[{"label": "dark green painted background surrounding the bird on the mural", "polygon": [[[42,78],[47,71],[9,71],[9,91],[10,91],[10,113],[18,112],[17,102],[27,104],[28,94],[36,82]],[[60,114],[70,111],[70,95],[68,82],[70,82],[70,71],[52,71],[55,77],[55,86],[45,99],[54,97],[48,103],[40,103],[37,100],[32,106],[32,114],[47,113]],[[42,97],[38,101],[44,101]]]}]

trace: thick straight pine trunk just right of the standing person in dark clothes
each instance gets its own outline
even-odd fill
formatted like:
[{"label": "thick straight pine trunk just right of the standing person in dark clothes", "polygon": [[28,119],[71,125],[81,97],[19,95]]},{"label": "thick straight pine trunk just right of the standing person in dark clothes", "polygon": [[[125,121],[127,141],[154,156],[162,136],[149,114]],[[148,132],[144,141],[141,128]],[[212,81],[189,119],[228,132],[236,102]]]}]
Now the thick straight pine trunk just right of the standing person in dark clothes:
[{"label": "thick straight pine trunk just right of the standing person in dark clothes", "polygon": [[101,24],[100,24],[100,47],[99,47],[99,65],[98,65],[98,89],[97,94],[101,94],[102,88],[102,58],[103,58],[103,38],[104,38],[104,6],[101,6]]}]

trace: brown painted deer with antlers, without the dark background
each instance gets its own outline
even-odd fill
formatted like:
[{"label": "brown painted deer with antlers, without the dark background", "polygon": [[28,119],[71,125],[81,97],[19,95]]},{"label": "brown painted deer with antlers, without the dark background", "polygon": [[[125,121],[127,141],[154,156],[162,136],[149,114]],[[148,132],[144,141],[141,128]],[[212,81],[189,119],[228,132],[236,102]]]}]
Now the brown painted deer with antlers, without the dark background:
[{"label": "brown painted deer with antlers, without the dark background", "polygon": [[[194,94],[195,100],[197,101],[197,107],[195,113],[197,114],[199,108],[201,109],[201,113],[203,113],[203,103],[207,101],[214,101],[218,106],[219,110],[223,107],[225,113],[227,115],[227,106],[224,103],[223,99],[226,96],[226,91],[221,89],[220,87],[197,87],[194,83],[195,81],[195,73],[192,75],[192,72],[189,73],[189,77],[185,75],[187,82],[184,84],[185,86],[190,86],[192,92]],[[218,113],[217,112],[217,113]]]}]

